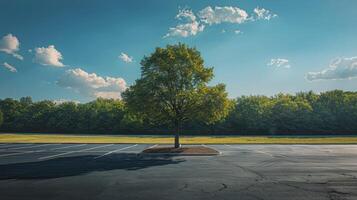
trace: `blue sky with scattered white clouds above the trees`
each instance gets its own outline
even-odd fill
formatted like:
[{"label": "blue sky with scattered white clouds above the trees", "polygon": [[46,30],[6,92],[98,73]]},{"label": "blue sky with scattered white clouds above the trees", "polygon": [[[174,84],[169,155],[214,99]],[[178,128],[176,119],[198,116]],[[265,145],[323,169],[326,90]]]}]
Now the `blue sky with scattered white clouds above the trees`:
[{"label": "blue sky with scattered white clouds above the trees", "polygon": [[214,67],[211,84],[225,83],[232,98],[356,91],[356,8],[354,0],[2,0],[0,98],[119,98],[144,55],[178,42],[197,47]]}]

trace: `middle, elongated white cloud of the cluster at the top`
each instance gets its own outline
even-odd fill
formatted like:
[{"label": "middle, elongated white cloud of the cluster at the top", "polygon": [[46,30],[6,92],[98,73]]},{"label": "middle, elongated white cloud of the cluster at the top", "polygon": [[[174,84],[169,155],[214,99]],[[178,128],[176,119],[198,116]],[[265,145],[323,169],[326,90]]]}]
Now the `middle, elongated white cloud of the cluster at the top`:
[{"label": "middle, elongated white cloud of the cluster at the top", "polygon": [[248,13],[245,10],[232,6],[214,8],[208,6],[199,11],[198,16],[202,22],[209,25],[222,22],[241,24],[248,20]]}]

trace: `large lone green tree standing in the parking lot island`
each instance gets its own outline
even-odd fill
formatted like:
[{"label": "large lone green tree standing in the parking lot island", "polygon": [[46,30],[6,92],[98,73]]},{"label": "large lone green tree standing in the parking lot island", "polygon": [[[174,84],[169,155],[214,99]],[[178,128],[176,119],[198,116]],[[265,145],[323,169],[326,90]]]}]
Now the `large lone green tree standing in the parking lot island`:
[{"label": "large lone green tree standing in the parking lot island", "polygon": [[213,68],[204,66],[200,53],[185,44],[156,48],[141,61],[141,78],[123,93],[128,108],[153,123],[180,128],[187,120],[213,123],[229,112],[225,86],[207,86]]}]

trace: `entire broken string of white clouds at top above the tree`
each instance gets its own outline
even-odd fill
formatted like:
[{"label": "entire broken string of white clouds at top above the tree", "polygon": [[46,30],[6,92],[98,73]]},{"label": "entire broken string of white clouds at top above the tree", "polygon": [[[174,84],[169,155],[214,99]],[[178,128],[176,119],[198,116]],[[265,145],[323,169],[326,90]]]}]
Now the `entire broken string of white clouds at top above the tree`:
[{"label": "entire broken string of white clouds at top above the tree", "polygon": [[[196,14],[189,9],[179,10],[176,19],[180,20],[176,27],[169,28],[169,32],[164,37],[189,37],[195,36],[204,31],[206,26],[221,23],[242,24],[252,22],[258,19],[270,20],[277,17],[276,14],[264,8],[255,8],[249,17],[247,11],[233,6],[207,6]],[[225,30],[222,33],[226,32]],[[237,33],[237,32],[236,32]]]}]

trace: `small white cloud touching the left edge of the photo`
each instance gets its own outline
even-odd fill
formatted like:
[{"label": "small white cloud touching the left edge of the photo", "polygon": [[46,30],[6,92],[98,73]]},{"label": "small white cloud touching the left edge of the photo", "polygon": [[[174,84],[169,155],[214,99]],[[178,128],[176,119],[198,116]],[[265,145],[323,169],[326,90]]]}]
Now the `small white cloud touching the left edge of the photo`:
[{"label": "small white cloud touching the left edge of the photo", "polygon": [[14,56],[19,60],[23,60],[24,58],[17,54],[16,52],[19,50],[20,42],[16,36],[13,36],[11,33],[5,35],[0,40],[0,51],[5,52]]}]

